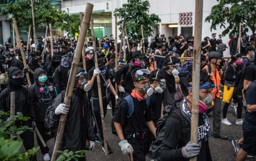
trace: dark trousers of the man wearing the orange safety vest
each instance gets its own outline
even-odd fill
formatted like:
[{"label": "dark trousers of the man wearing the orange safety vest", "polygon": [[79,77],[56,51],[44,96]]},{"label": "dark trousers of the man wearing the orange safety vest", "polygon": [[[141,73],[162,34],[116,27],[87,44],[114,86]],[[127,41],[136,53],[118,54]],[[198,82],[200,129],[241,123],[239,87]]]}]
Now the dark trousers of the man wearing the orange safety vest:
[{"label": "dark trousers of the man wearing the orange safety vest", "polygon": [[221,107],[220,107],[220,98],[215,97],[215,105],[207,110],[207,114],[213,111],[213,134],[220,134],[220,123],[221,123]]}]

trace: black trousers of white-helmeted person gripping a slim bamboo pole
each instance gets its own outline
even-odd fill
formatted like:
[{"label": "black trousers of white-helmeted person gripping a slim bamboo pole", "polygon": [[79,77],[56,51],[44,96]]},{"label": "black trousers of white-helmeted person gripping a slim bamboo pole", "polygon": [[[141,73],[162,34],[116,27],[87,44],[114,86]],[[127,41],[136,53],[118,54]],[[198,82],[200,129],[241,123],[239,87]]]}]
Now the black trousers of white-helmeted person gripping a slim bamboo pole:
[{"label": "black trousers of white-helmeted person gripping a slim bamboo pole", "polygon": [[[94,132],[95,134],[98,133],[99,138],[101,139],[101,142],[103,142],[103,129],[102,129],[102,122],[101,122],[101,109],[99,107],[99,99],[94,99],[93,97],[91,98],[91,103],[92,103],[92,111],[93,111],[93,118],[95,121],[95,126],[94,126]],[[102,104],[103,104],[103,112],[104,112],[104,117],[107,114],[107,97],[102,98]]]}]

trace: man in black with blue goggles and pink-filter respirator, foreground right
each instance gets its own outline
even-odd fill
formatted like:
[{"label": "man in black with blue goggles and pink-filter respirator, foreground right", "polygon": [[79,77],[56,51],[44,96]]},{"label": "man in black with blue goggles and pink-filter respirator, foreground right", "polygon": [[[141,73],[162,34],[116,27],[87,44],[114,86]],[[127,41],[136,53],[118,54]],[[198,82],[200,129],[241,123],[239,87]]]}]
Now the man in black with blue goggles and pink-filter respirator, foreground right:
[{"label": "man in black with blue goggles and pink-filter respirator, foreground right", "polygon": [[166,120],[164,137],[159,152],[161,161],[170,161],[170,158],[172,161],[189,161],[189,158],[196,155],[198,161],[212,161],[208,142],[211,131],[205,112],[214,104],[211,96],[212,86],[214,85],[207,72],[203,70],[200,71],[200,86],[203,87],[199,89],[198,143],[190,142],[193,88],[192,72],[190,72],[187,76],[189,95],[181,102],[180,108],[174,109]]}]

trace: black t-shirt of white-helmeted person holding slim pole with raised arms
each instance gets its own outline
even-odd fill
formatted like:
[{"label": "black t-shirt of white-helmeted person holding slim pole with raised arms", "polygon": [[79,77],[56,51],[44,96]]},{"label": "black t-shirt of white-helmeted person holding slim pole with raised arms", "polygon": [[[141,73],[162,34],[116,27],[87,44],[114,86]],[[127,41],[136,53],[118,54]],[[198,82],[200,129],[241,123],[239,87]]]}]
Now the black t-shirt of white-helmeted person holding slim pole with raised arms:
[{"label": "black t-shirt of white-helmeted person holding slim pole with raised arms", "polygon": [[[95,69],[95,67],[93,67],[92,69],[89,70],[89,72],[88,72],[88,81],[92,80],[94,69]],[[110,78],[108,70],[106,68],[104,68],[104,69],[106,70],[106,73],[104,75],[99,75],[99,78],[101,80],[101,94],[102,94],[102,97],[107,95],[107,87],[104,86],[104,83],[105,83],[105,80],[108,82],[108,79]],[[95,98],[99,97],[97,77],[95,78],[93,86],[92,86],[92,97],[95,97]]]}]

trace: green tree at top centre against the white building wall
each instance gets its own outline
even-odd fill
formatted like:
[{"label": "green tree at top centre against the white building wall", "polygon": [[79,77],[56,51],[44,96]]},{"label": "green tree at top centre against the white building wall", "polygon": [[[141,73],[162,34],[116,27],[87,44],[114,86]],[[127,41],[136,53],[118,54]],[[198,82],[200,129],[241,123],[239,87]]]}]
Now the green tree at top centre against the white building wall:
[{"label": "green tree at top centre against the white building wall", "polygon": [[155,14],[149,15],[150,4],[148,0],[128,0],[127,2],[122,7],[115,9],[114,15],[121,19],[118,22],[119,30],[122,30],[122,21],[125,20],[127,36],[133,37],[138,43],[142,39],[141,25],[144,37],[149,37],[152,36],[153,32],[151,27],[156,27],[161,19]]}]

